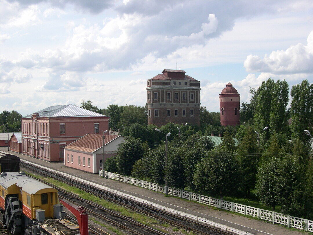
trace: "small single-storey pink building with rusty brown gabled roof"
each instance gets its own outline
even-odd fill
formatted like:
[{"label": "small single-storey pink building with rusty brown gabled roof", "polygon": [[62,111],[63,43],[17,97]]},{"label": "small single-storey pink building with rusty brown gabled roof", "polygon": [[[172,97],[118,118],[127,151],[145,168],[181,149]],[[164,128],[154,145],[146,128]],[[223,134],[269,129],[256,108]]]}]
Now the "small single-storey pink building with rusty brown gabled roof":
[{"label": "small single-storey pink building with rusty brown gabled roof", "polygon": [[[121,135],[105,135],[105,160],[116,155],[118,145],[125,141]],[[102,135],[87,134],[64,148],[64,165],[89,173],[102,170]]]}]

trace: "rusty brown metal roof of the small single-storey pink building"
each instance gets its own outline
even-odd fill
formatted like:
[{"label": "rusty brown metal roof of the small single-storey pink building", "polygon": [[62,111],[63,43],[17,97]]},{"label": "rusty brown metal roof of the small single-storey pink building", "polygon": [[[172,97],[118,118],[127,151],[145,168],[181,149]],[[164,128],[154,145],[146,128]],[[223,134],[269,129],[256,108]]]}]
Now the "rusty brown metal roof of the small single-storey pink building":
[{"label": "rusty brown metal roof of the small single-storey pink building", "polygon": [[[64,149],[93,153],[102,147],[102,136],[103,135],[99,134],[86,134],[71,144],[66,145]],[[120,136],[121,135],[105,135],[104,145],[110,143],[116,138],[119,138]]]}]

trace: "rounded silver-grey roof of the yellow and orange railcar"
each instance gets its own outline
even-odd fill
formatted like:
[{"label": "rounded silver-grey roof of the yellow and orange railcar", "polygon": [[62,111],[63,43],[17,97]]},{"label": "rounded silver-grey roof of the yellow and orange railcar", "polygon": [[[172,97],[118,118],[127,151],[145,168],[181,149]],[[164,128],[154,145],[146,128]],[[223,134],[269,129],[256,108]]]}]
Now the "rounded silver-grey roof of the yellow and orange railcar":
[{"label": "rounded silver-grey roof of the yellow and orange railcar", "polygon": [[16,184],[28,194],[36,194],[41,189],[51,189],[51,192],[55,191],[55,189],[50,187],[49,185],[46,185],[26,175],[21,175],[18,172],[6,173],[8,174],[7,176],[0,177],[0,185],[5,189],[8,189],[8,187]]}]

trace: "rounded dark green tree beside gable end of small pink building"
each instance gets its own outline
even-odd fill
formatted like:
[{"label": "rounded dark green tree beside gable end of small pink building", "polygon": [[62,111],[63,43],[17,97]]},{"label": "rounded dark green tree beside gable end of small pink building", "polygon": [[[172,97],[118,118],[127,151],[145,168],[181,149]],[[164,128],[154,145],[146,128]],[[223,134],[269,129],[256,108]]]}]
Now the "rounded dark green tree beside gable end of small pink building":
[{"label": "rounded dark green tree beside gable end of small pink building", "polygon": [[134,163],[143,157],[145,148],[139,138],[126,138],[117,149],[116,166],[122,175],[130,175]]}]

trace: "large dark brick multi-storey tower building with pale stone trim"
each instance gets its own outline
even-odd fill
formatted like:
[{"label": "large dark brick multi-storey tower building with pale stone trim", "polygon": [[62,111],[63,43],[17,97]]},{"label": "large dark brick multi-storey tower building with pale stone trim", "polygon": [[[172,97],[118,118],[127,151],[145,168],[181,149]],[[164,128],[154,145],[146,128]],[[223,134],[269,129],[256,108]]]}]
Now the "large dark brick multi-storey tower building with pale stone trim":
[{"label": "large dark brick multi-storey tower building with pale stone trim", "polygon": [[200,81],[184,70],[165,69],[147,80],[148,123],[200,125]]}]

